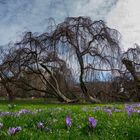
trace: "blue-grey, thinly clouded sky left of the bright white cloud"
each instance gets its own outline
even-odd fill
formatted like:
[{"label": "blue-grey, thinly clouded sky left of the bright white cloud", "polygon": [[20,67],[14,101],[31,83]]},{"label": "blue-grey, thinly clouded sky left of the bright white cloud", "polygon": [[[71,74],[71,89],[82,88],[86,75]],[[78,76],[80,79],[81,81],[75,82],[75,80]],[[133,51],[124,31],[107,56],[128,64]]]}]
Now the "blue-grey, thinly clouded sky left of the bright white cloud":
[{"label": "blue-grey, thinly clouded sky left of the bright white cloud", "polygon": [[25,30],[43,32],[47,20],[61,22],[67,16],[105,19],[118,0],[5,0],[0,2],[0,45],[17,40]]}]

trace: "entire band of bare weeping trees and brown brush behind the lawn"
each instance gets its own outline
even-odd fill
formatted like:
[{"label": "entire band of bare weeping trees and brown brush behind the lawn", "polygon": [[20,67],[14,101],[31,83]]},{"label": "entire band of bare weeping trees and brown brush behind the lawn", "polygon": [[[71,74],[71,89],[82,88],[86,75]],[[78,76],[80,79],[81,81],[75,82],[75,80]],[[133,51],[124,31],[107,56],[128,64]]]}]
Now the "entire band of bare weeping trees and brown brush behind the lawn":
[{"label": "entire band of bare weeping trees and brown brush behind the lawn", "polygon": [[140,100],[140,47],[123,52],[104,21],[68,17],[0,48],[0,96],[61,102]]}]

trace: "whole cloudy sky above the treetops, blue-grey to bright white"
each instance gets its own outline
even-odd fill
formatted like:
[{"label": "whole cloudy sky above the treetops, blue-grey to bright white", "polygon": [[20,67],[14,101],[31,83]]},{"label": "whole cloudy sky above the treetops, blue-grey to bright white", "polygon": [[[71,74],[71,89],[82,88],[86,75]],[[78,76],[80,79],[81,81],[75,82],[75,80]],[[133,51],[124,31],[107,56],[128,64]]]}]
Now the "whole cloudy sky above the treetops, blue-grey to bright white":
[{"label": "whole cloudy sky above the treetops, blue-grey to bright white", "polygon": [[0,45],[20,39],[22,32],[43,32],[48,19],[67,16],[105,20],[122,34],[122,45],[140,44],[140,0],[0,0]]}]

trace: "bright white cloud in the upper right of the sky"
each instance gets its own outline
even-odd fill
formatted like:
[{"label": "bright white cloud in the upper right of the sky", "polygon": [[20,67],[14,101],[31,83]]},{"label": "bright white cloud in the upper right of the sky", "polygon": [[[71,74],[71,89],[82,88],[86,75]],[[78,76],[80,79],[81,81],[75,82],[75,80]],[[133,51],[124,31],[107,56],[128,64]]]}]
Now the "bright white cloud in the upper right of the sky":
[{"label": "bright white cloud in the upper right of the sky", "polygon": [[140,44],[140,0],[119,0],[107,17],[107,23],[122,34],[125,49]]}]

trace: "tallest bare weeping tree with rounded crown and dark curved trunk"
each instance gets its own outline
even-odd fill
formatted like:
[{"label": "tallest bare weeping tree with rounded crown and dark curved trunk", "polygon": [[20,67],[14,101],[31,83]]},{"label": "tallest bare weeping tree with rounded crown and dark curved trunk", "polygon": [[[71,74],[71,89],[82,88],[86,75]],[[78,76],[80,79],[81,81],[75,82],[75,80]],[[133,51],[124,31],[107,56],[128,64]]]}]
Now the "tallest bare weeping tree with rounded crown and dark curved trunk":
[{"label": "tallest bare weeping tree with rounded crown and dark curved trunk", "polygon": [[53,31],[52,46],[62,59],[68,59],[67,63],[78,71],[86,101],[99,102],[88,92],[84,80],[86,72],[115,69],[114,64],[120,54],[119,38],[119,33],[103,21],[92,21],[88,17],[68,17]]}]

